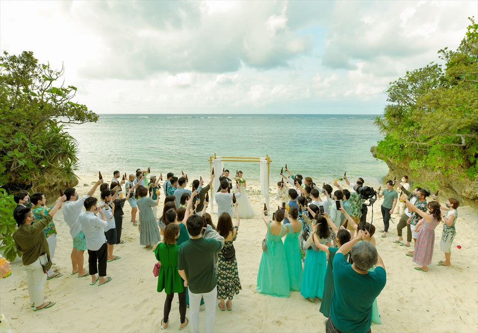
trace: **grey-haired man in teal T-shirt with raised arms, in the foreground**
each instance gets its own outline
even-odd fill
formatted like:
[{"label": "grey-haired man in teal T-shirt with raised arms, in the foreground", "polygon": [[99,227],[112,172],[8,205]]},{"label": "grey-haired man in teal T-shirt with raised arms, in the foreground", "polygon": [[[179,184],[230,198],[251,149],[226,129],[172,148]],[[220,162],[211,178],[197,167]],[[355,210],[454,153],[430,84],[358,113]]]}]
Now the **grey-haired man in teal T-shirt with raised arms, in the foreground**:
[{"label": "grey-haired man in teal T-shirt with raised arms, in the foreground", "polygon": [[[359,243],[362,239],[366,242]],[[342,245],[334,256],[334,294],[327,333],[371,332],[372,305],[385,287],[386,272],[369,239],[368,231],[359,230],[357,237]],[[350,250],[353,264],[344,257]],[[375,271],[367,272],[373,265]]]}]

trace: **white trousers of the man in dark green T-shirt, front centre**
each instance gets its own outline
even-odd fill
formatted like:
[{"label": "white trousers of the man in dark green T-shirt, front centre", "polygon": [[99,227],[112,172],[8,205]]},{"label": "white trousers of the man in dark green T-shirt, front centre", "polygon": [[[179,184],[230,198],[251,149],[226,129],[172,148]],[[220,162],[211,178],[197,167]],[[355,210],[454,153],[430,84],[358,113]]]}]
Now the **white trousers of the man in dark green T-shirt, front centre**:
[{"label": "white trousers of the man in dark green T-shirt, front centre", "polygon": [[217,286],[213,290],[203,294],[195,294],[188,288],[189,293],[189,319],[191,333],[199,333],[199,307],[201,297],[204,299],[206,317],[204,318],[204,333],[214,332],[214,322],[216,320],[216,299],[218,296]]}]

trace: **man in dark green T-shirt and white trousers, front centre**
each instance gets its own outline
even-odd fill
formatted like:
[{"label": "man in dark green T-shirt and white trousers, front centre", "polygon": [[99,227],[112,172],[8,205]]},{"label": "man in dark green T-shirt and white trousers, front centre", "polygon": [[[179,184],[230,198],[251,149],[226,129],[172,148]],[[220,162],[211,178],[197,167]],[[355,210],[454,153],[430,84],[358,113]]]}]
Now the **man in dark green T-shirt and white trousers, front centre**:
[{"label": "man in dark green T-shirt and white trousers, front centre", "polygon": [[[199,215],[191,215],[186,222],[190,239],[180,245],[177,268],[189,286],[189,316],[191,332],[199,332],[199,305],[204,299],[206,317],[204,332],[214,332],[216,319],[216,298],[218,295],[216,272],[214,270],[214,254],[221,251],[224,238],[207,226],[208,239],[202,237],[204,221]],[[206,232],[204,232],[206,235]]]}]

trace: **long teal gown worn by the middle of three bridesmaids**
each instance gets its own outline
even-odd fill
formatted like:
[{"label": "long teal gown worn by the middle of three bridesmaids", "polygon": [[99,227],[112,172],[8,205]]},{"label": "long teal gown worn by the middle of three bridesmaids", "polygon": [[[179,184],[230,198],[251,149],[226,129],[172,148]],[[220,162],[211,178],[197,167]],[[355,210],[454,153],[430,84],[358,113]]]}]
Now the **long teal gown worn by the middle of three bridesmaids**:
[{"label": "long teal gown worn by the middle of three bridesmaids", "polygon": [[300,291],[302,285],[302,255],[298,235],[301,230],[293,232],[290,223],[287,224],[287,228],[289,232],[285,235],[284,251],[289,273],[289,288],[290,290]]}]

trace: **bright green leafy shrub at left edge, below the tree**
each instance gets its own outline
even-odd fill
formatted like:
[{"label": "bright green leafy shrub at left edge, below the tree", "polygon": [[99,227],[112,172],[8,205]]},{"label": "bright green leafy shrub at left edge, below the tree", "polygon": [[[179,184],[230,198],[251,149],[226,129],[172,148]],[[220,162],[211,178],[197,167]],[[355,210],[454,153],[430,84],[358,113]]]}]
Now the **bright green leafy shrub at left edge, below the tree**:
[{"label": "bright green leafy shrub at left edge, below the tree", "polygon": [[17,204],[13,201],[13,195],[8,195],[7,191],[0,188],[0,251],[9,261],[15,260],[16,256],[21,257],[21,252],[17,250],[12,234],[17,226],[13,219],[13,210]]}]

